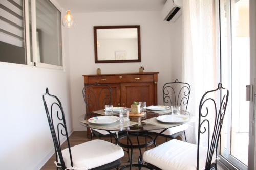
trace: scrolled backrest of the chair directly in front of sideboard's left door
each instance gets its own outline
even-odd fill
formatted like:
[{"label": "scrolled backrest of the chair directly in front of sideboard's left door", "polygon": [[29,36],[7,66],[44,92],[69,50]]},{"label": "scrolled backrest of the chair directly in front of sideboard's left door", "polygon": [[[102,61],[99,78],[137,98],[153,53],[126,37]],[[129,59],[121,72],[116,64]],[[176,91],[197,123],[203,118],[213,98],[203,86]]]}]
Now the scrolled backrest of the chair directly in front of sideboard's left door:
[{"label": "scrolled backrest of the chair directly in front of sideboard's left door", "polygon": [[111,87],[106,84],[86,85],[82,89],[83,99],[86,103],[86,112],[101,110],[105,105],[111,104]]}]

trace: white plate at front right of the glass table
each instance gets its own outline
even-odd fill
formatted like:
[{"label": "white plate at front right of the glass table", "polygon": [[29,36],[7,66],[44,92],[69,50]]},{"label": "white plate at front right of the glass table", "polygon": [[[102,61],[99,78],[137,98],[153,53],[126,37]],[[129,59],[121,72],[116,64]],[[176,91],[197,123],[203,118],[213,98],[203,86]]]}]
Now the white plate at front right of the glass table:
[{"label": "white plate at front right of the glass table", "polygon": [[189,121],[189,116],[187,115],[162,115],[158,116],[157,120],[164,123],[184,123]]}]

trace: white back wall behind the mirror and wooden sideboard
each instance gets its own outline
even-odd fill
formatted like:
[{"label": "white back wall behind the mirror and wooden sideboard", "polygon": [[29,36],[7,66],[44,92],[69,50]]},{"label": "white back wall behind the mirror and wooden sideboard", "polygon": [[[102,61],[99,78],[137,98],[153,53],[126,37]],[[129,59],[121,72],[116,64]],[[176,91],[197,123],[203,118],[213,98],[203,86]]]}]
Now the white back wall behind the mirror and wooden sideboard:
[{"label": "white back wall behind the mirror and wooden sideboard", "polygon": [[[74,130],[84,130],[78,117],[85,113],[82,98],[83,74],[95,74],[100,68],[102,74],[138,72],[144,66],[145,72],[159,71],[158,103],[162,104],[161,88],[171,80],[170,23],[163,22],[159,11],[148,12],[102,12],[74,13],[76,26],[69,34],[71,103]],[[141,63],[94,63],[93,26],[140,25]]]}]

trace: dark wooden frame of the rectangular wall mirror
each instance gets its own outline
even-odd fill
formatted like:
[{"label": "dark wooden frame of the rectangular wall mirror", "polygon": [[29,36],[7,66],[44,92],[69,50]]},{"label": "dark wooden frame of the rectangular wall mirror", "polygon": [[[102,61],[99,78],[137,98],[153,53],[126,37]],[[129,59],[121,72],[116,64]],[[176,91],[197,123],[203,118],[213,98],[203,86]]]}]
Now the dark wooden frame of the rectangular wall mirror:
[{"label": "dark wooden frame of the rectangular wall mirror", "polygon": [[[98,48],[97,48],[97,29],[122,29],[122,28],[137,28],[138,34],[138,60],[98,60]],[[140,26],[94,26],[94,57],[95,63],[128,63],[128,62],[141,62],[140,58]]]}]

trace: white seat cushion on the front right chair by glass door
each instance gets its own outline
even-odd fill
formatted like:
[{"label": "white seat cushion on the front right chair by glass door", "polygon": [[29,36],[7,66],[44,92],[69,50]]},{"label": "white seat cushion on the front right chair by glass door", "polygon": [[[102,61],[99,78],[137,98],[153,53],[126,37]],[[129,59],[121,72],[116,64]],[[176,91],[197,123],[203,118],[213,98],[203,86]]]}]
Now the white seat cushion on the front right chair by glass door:
[{"label": "white seat cushion on the front right chair by glass door", "polygon": [[[207,148],[200,147],[199,169],[205,169]],[[216,152],[211,163],[216,159]],[[143,154],[143,160],[163,170],[196,170],[197,145],[172,139]]]}]

